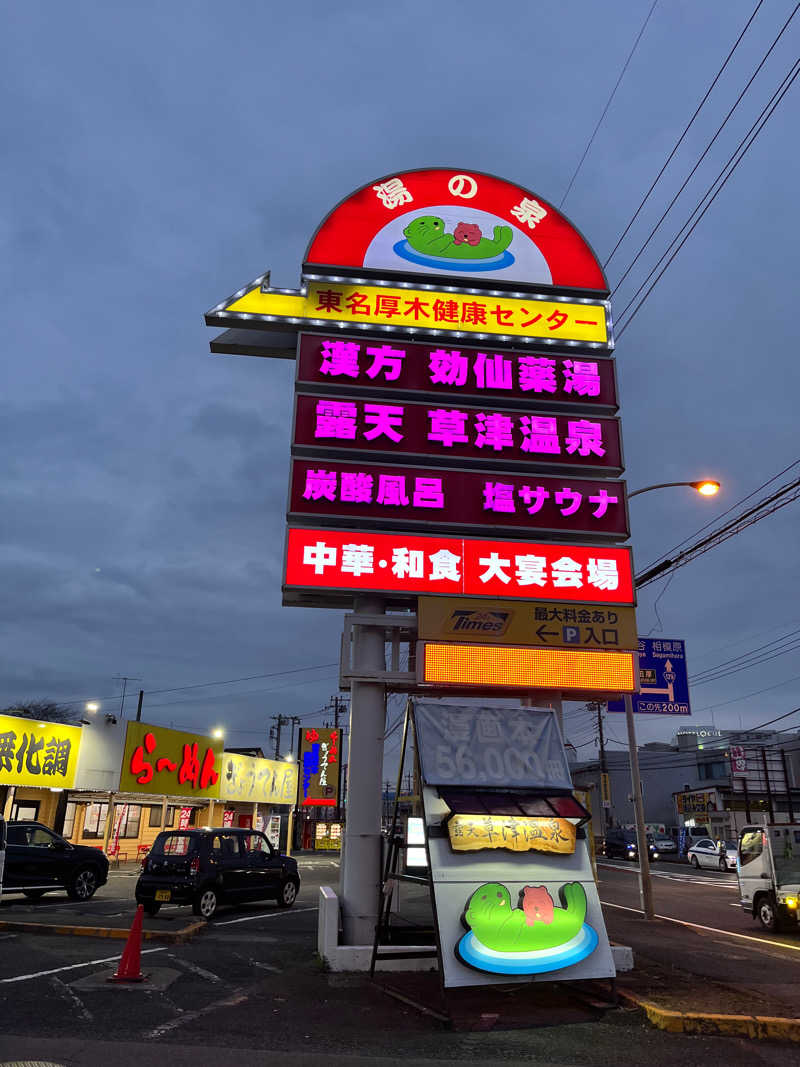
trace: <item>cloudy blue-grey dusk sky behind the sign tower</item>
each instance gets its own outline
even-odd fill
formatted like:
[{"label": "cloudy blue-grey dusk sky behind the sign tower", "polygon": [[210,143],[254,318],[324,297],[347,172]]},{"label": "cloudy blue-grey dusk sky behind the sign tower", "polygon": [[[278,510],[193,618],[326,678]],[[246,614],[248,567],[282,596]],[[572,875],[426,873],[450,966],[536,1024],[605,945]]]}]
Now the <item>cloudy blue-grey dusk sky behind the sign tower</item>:
[{"label": "cloudy blue-grey dusk sky behind the sign tower", "polygon": [[[563,204],[602,260],[754,3],[656,4]],[[611,260],[612,287],[793,7],[761,7]],[[265,270],[297,288],[320,220],[385,174],[485,171],[558,206],[649,10],[15,7],[0,71],[0,706],[114,710],[128,675],[126,713],[141,687],[145,719],[223,724],[231,745],[266,746],[278,713],[315,720],[336,692],[341,612],[281,606],[293,366],[209,354],[204,313]],[[798,44],[800,17],[613,292],[618,317]],[[631,501],[639,571],[800,456],[798,100],[794,84],[617,347],[629,489],[722,483],[710,500]],[[685,639],[691,675],[796,631],[797,545],[795,504],[643,590],[640,634]],[[695,685],[692,720],[642,717],[640,738],[788,712],[798,659]],[[591,753],[586,713],[566,721]]]}]

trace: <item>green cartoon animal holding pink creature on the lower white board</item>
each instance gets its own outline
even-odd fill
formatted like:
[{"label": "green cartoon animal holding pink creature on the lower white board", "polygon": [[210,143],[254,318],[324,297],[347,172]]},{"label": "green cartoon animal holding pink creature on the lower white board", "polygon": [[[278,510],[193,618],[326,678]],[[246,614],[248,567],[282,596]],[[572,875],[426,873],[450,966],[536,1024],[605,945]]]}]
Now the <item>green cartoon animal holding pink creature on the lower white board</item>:
[{"label": "green cartoon animal holding pink creature on the lower white board", "polygon": [[562,886],[556,907],[544,886],[526,886],[522,907],[511,905],[511,894],[499,882],[490,881],[469,897],[464,924],[478,941],[494,952],[540,952],[571,941],[586,920],[587,898],[580,882]]}]

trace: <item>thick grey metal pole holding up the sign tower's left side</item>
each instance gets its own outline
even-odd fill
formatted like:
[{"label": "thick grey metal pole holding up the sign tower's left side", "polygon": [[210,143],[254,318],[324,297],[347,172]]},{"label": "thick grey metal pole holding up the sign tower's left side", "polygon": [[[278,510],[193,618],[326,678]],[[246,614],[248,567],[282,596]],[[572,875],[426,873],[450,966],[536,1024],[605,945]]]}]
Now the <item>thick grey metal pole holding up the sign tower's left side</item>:
[{"label": "thick grey metal pole holding up the sign tower's left side", "polygon": [[[380,596],[359,596],[355,612],[383,615]],[[382,626],[356,626],[353,672],[386,669]],[[346,944],[371,944],[381,888],[381,781],[386,730],[384,686],[352,683],[345,854],[341,860],[341,919]]]}]

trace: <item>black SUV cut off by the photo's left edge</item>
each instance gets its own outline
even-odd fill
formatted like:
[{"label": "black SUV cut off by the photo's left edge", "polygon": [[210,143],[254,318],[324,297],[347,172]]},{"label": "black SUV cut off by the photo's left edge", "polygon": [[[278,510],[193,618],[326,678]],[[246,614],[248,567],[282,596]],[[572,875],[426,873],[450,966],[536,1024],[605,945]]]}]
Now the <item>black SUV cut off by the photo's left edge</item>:
[{"label": "black SUV cut off by the photo's left edge", "polygon": [[109,878],[109,861],[99,848],[70,845],[42,823],[9,823],[3,893],[25,893],[33,901],[65,889],[73,901],[87,901]]}]

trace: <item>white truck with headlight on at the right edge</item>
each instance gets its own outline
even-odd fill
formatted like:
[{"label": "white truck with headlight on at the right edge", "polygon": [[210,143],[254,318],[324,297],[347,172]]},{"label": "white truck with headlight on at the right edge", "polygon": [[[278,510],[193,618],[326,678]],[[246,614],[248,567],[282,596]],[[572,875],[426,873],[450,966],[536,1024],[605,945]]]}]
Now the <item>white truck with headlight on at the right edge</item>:
[{"label": "white truck with headlight on at the right edge", "polygon": [[736,863],[742,908],[767,930],[796,929],[800,899],[800,823],[746,826]]}]

